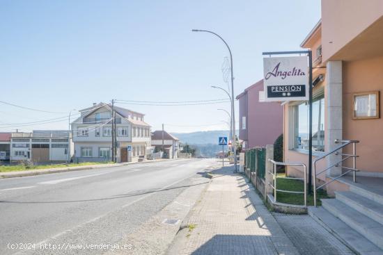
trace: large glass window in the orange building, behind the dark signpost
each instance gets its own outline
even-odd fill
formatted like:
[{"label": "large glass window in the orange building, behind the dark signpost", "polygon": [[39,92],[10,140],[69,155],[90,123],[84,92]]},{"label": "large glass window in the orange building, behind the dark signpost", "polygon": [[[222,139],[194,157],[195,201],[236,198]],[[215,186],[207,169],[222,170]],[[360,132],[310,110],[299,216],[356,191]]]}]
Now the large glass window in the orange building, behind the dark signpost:
[{"label": "large glass window in the orange building, behind the dark signpost", "polygon": [[[308,150],[308,103],[294,107],[294,147]],[[313,151],[325,151],[325,98],[313,99]]]}]

